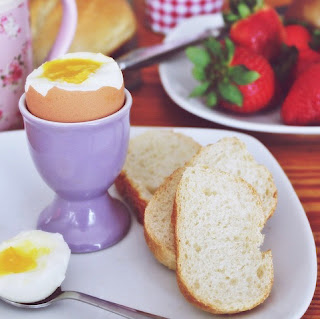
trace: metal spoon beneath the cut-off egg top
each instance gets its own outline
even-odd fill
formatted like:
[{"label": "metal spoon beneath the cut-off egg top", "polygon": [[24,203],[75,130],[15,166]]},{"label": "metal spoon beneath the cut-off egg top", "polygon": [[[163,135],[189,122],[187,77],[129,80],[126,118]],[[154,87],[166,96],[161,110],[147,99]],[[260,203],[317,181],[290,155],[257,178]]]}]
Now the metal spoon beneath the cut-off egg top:
[{"label": "metal spoon beneath the cut-off egg top", "polygon": [[92,306],[102,308],[104,310],[107,310],[109,312],[115,313],[117,315],[120,315],[128,319],[147,319],[147,318],[168,319],[168,318],[156,316],[141,310],[122,306],[111,301],[93,297],[93,296],[84,294],[82,292],[63,291],[61,290],[61,287],[57,288],[57,290],[55,290],[46,299],[43,299],[34,303],[19,303],[19,302],[11,301],[11,300],[0,297],[0,300],[19,308],[43,308],[43,307],[50,306],[52,303],[59,300],[63,300],[63,299],[78,300],[78,301],[90,304]]}]

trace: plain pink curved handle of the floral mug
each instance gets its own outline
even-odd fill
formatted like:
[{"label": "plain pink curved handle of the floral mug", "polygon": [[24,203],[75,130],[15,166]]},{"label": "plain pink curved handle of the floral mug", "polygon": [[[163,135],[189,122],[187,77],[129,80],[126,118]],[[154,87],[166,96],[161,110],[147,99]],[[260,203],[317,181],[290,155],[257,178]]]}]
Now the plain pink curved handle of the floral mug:
[{"label": "plain pink curved handle of the floral mug", "polygon": [[57,38],[46,58],[50,61],[67,53],[77,28],[78,11],[75,0],[62,0],[62,21]]}]

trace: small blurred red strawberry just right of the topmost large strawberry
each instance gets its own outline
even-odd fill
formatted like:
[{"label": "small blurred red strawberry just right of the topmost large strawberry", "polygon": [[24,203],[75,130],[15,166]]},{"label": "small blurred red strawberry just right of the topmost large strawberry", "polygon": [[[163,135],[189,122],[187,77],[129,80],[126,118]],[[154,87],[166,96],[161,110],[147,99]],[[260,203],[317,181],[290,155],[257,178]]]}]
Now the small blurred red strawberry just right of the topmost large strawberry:
[{"label": "small blurred red strawberry just right of the topmost large strawberry", "polygon": [[284,43],[287,46],[295,46],[299,51],[310,49],[311,34],[299,24],[291,24],[285,27]]}]

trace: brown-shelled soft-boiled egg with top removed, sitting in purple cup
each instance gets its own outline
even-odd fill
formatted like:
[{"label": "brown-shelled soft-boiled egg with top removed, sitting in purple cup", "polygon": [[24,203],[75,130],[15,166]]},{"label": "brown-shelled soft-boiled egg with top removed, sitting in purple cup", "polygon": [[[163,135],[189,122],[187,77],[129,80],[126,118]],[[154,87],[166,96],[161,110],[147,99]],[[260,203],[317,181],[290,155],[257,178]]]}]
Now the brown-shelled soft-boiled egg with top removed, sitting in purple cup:
[{"label": "brown-shelled soft-boiled egg with top removed, sitting in purple cup", "polygon": [[31,72],[25,85],[28,110],[55,122],[84,122],[115,113],[124,105],[123,75],[101,53],[68,53]]}]

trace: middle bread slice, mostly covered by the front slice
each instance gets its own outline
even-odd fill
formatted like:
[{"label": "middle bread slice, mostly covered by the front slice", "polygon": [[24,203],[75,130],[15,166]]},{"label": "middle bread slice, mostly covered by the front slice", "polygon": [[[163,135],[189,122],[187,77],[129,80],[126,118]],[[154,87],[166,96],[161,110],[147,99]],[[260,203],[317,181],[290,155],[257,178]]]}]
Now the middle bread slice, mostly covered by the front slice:
[{"label": "middle bread slice, mostly covered by the front slice", "polygon": [[[277,204],[277,189],[271,173],[259,165],[246,145],[236,137],[227,137],[203,147],[187,164],[217,168],[242,177],[249,182],[262,199],[265,221]],[[175,269],[175,250],[171,226],[172,203],[183,170],[175,172],[157,190],[145,210],[144,233],[147,244],[163,265]]]}]

